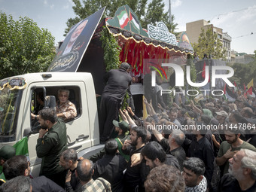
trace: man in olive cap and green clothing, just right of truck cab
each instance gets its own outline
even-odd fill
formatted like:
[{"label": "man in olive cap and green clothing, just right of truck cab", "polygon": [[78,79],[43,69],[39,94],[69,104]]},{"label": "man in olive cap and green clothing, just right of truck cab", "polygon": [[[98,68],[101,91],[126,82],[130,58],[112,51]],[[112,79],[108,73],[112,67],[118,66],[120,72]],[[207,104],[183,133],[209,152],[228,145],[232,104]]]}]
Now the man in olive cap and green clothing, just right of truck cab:
[{"label": "man in olive cap and green clothing, just right of truck cab", "polygon": [[117,138],[115,138],[115,140],[117,141],[118,144],[118,151],[120,153],[120,155],[122,155],[126,161],[130,160],[130,156],[123,154],[122,151],[122,147],[123,147],[123,143],[126,139],[130,139],[129,135],[125,135],[125,133],[129,130],[129,124],[126,123],[126,121],[121,121],[118,122],[117,120],[113,120],[113,124],[114,124],[114,130],[117,132]]}]

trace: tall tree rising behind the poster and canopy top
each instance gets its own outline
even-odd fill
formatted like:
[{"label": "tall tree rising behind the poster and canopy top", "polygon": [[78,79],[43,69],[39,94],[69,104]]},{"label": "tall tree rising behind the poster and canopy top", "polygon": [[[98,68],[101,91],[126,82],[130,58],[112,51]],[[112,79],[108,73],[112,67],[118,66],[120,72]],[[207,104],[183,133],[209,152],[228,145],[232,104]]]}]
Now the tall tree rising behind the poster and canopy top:
[{"label": "tall tree rising behind the poster and canopy top", "polygon": [[[73,10],[77,17],[69,18],[67,21],[67,28],[65,29],[66,36],[76,23],[80,20],[84,20],[89,17],[91,14],[98,11],[100,8],[105,8],[104,17],[114,17],[115,11],[122,5],[129,5],[129,7],[136,13],[138,19],[142,23],[143,28],[147,28],[147,24],[151,23],[155,25],[159,21],[166,23],[166,26],[169,28],[169,31],[174,32],[176,29],[177,23],[169,23],[169,14],[164,13],[164,3],[163,0],[153,0],[147,8],[148,0],[84,0],[84,6],[81,5],[80,0],[72,0],[75,3]],[[172,21],[175,17],[172,15]]]}]

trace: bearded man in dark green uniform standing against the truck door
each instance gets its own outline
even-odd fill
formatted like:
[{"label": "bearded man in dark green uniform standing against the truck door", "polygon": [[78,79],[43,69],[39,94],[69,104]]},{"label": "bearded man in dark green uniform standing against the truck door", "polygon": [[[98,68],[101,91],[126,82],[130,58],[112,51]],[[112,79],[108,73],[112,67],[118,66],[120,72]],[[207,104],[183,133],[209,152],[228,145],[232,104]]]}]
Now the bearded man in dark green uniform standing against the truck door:
[{"label": "bearded man in dark green uniform standing against the truck door", "polygon": [[61,187],[65,186],[66,170],[59,165],[59,156],[66,150],[66,124],[56,118],[53,108],[39,111],[39,130],[36,154],[42,158],[40,175],[50,178]]}]

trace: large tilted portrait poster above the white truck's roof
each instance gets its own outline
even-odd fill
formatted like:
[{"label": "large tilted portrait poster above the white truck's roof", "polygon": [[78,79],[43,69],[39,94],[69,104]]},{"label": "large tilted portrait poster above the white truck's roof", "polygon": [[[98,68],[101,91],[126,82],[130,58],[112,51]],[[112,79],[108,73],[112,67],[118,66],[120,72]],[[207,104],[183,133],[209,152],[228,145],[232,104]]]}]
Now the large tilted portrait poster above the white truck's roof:
[{"label": "large tilted portrait poster above the white truck's roof", "polygon": [[76,72],[105,8],[72,26],[47,72]]}]

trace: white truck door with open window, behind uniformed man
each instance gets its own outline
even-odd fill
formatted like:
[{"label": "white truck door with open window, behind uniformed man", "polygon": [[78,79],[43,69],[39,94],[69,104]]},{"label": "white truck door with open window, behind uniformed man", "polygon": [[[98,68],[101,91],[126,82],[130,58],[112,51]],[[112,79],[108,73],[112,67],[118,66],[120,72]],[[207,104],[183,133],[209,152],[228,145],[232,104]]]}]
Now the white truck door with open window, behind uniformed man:
[{"label": "white truck door with open window, behind uniformed man", "polygon": [[[45,86],[47,84],[47,86]],[[32,175],[38,175],[41,166],[41,160],[38,159],[35,151],[35,145],[38,139],[38,130],[35,129],[35,122],[32,120],[32,114],[35,113],[35,108],[38,106],[37,96],[43,91],[42,87],[46,90],[47,96],[55,96],[56,102],[58,100],[58,90],[66,89],[69,90],[69,100],[73,102],[77,108],[78,114],[75,118],[66,122],[67,127],[67,145],[68,148],[74,148],[76,151],[81,151],[85,148],[91,147],[91,134],[90,134],[90,122],[89,122],[89,110],[87,105],[87,93],[85,91],[85,85],[82,81],[70,81],[70,82],[37,82],[29,85],[27,93],[30,96],[26,96],[29,103],[24,112],[26,117],[24,122],[26,125],[30,125],[32,134],[29,136],[29,158],[32,164]]]}]

